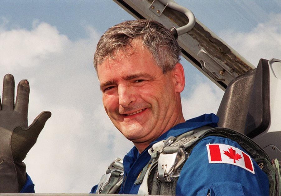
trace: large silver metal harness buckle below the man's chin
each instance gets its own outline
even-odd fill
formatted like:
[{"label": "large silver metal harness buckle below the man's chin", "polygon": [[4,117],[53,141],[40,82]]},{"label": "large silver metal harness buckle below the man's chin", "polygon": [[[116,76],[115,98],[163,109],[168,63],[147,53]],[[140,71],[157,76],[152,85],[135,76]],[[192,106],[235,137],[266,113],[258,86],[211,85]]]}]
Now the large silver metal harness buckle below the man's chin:
[{"label": "large silver metal harness buckle below the man's chin", "polygon": [[171,182],[179,175],[174,175],[176,169],[186,160],[187,154],[180,148],[180,153],[164,154],[161,153],[158,159],[158,178],[162,182]]}]

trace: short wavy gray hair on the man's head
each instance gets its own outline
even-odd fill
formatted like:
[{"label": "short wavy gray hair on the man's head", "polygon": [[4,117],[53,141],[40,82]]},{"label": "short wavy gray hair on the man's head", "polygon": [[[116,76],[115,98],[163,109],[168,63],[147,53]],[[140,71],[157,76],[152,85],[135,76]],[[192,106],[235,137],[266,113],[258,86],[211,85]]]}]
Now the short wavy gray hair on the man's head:
[{"label": "short wavy gray hair on the man's head", "polygon": [[139,39],[151,52],[163,73],[173,70],[180,60],[179,44],[164,25],[143,19],[125,21],[109,28],[100,38],[94,55],[96,71],[108,57],[115,59],[118,52],[126,53],[134,39]]}]

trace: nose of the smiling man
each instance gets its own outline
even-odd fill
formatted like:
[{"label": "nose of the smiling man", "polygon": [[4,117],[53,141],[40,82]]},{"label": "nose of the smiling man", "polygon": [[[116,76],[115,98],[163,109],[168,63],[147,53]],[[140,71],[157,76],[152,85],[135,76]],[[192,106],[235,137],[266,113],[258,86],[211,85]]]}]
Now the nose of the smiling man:
[{"label": "nose of the smiling man", "polygon": [[131,87],[126,85],[118,85],[119,105],[122,107],[128,107],[130,103],[136,100],[136,95]]}]

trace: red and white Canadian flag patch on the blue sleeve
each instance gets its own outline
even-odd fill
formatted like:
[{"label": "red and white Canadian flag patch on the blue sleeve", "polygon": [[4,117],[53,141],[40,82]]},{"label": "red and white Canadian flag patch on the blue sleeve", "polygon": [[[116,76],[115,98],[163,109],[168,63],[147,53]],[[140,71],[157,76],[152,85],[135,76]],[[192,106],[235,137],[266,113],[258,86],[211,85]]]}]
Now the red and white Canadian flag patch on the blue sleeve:
[{"label": "red and white Canadian flag patch on the blue sleeve", "polygon": [[207,144],[206,146],[209,163],[232,164],[255,174],[251,157],[238,148],[226,144]]}]

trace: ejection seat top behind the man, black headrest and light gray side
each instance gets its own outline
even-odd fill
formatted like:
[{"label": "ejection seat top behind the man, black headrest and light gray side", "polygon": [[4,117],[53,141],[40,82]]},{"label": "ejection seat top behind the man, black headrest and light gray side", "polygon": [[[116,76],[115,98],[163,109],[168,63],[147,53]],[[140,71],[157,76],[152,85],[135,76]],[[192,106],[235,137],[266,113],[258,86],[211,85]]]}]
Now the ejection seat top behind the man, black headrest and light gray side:
[{"label": "ejection seat top behind the man, black headrest and light gray side", "polygon": [[281,160],[281,60],[260,59],[227,86],[217,112],[220,127],[239,131]]}]

